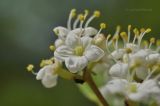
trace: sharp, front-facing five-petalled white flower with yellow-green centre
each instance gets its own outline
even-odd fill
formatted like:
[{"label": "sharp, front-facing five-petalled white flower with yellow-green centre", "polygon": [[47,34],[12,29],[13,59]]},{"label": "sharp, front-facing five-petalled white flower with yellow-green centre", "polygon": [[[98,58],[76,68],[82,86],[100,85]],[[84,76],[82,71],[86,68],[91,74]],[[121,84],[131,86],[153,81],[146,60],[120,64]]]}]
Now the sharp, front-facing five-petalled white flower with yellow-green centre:
[{"label": "sharp, front-facing five-petalled white flower with yellow-green centre", "polygon": [[79,37],[70,32],[67,35],[65,45],[56,49],[54,56],[65,61],[66,67],[73,73],[81,71],[88,62],[96,62],[104,56],[104,51],[92,44],[92,38]]}]

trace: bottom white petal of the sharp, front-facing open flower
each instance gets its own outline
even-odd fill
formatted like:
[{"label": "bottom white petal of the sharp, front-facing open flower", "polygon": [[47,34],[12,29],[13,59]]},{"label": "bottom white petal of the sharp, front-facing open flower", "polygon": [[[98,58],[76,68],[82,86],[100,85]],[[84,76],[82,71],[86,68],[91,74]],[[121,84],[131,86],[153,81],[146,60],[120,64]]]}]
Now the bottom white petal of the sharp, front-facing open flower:
[{"label": "bottom white petal of the sharp, front-facing open flower", "polygon": [[65,61],[66,67],[72,73],[77,73],[83,70],[87,66],[87,63],[88,61],[84,56],[82,57],[71,56],[67,58]]}]

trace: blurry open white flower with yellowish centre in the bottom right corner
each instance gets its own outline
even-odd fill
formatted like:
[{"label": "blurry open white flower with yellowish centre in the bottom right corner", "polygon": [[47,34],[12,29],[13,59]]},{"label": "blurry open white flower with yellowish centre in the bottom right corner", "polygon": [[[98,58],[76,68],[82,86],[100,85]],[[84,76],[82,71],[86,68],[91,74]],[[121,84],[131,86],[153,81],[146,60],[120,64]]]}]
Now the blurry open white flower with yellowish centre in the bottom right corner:
[{"label": "blurry open white flower with yellowish centre in the bottom right corner", "polygon": [[[111,80],[101,88],[104,96],[123,95],[130,100],[137,102],[149,102],[151,99],[160,98],[160,87],[156,80],[146,80],[142,83],[128,82],[125,79]],[[108,95],[109,96],[109,95]]]}]

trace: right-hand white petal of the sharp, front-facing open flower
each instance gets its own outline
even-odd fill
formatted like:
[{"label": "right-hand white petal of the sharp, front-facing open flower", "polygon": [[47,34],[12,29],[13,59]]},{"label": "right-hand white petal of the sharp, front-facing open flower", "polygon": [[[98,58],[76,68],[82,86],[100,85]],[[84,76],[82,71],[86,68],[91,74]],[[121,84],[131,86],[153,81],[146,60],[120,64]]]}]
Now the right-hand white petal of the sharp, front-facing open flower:
[{"label": "right-hand white petal of the sharp, front-facing open flower", "polygon": [[88,61],[96,62],[104,56],[104,51],[98,46],[91,45],[87,50],[85,50],[84,55]]}]

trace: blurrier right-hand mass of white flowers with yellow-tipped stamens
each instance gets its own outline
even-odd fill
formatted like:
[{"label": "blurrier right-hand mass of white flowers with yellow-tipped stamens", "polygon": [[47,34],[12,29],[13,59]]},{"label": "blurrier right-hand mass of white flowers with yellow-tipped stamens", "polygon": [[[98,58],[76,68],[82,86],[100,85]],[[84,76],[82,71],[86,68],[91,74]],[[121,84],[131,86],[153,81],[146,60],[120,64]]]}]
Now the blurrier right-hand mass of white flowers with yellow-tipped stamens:
[{"label": "blurrier right-hand mass of white flowers with yellow-tipped stamens", "polygon": [[[160,70],[160,40],[150,38],[149,42],[142,41],[148,29],[133,29],[134,38],[131,41],[131,25],[128,32],[121,32],[113,36],[111,42],[107,37],[106,47],[109,57],[114,61],[109,69],[110,81],[101,87],[104,96],[121,96],[126,100],[149,104],[160,99],[159,70]],[[119,46],[119,37],[123,45]],[[157,45],[152,49],[153,44]],[[111,45],[113,44],[113,46]],[[110,48],[114,50],[110,50]]]}]

